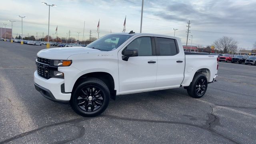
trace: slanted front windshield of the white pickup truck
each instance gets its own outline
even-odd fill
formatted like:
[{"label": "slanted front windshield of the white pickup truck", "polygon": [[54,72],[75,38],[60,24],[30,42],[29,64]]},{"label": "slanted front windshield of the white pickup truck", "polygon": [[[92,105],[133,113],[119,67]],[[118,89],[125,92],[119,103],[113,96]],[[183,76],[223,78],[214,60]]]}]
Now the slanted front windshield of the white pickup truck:
[{"label": "slanted front windshield of the white pickup truck", "polygon": [[88,48],[95,48],[102,51],[110,51],[118,48],[121,44],[123,44],[126,40],[128,40],[131,35],[124,34],[108,34],[99,38],[98,40],[89,44]]}]

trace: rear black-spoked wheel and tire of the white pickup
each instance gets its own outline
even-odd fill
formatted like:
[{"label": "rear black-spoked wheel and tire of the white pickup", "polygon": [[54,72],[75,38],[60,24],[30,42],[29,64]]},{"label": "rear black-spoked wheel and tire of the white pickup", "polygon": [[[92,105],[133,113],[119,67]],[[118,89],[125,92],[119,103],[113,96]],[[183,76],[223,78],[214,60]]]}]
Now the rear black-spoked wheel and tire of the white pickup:
[{"label": "rear black-spoked wheel and tire of the white pickup", "polygon": [[204,96],[208,86],[207,78],[204,74],[198,73],[194,76],[190,86],[187,88],[188,95],[192,98]]}]

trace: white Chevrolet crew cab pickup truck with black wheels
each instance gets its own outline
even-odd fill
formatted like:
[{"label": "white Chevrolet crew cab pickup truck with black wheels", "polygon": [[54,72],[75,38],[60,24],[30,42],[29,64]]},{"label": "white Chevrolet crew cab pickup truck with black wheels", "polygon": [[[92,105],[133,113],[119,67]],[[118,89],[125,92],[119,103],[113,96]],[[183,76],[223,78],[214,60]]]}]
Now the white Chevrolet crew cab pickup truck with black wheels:
[{"label": "white Chevrolet crew cab pickup truck with black wheels", "polygon": [[44,97],[96,116],[117,95],[184,87],[202,97],[216,81],[217,56],[185,53],[179,38],[134,32],[108,34],[86,47],[38,52],[34,85]]}]

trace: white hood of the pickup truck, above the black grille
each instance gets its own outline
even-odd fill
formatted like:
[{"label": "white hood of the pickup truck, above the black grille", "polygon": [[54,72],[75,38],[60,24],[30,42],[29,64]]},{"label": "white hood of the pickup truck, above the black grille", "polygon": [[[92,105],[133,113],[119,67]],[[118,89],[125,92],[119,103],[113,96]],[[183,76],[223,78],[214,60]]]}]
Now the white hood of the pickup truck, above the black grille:
[{"label": "white hood of the pickup truck, above the black grille", "polygon": [[86,47],[64,47],[64,48],[48,48],[40,50],[37,56],[53,60],[66,60],[74,54],[101,52],[100,50]]}]

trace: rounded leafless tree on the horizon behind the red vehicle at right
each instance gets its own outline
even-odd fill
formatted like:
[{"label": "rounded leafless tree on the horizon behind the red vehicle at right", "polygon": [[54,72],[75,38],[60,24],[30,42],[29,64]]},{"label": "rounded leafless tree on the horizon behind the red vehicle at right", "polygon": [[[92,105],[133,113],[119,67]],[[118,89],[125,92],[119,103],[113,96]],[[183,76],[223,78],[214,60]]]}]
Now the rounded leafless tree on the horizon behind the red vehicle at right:
[{"label": "rounded leafless tree on the horizon behind the red vehicle at right", "polygon": [[215,40],[214,46],[218,50],[222,50],[223,53],[234,53],[237,50],[238,42],[231,37],[223,36],[218,40]]}]

